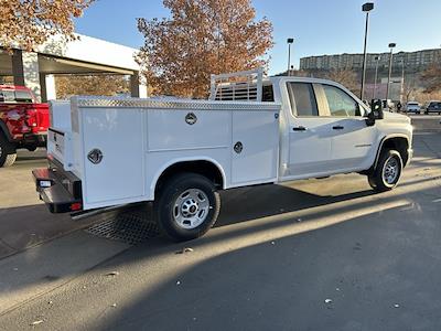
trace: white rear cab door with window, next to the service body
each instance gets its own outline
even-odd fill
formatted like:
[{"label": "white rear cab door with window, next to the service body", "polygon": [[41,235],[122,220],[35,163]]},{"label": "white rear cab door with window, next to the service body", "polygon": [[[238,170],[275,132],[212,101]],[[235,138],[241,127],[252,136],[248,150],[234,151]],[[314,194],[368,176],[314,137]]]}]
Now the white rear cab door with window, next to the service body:
[{"label": "white rear cab door with window, next to the service body", "polygon": [[325,174],[332,170],[332,119],[319,116],[314,84],[288,82],[287,90],[291,106],[287,177]]}]

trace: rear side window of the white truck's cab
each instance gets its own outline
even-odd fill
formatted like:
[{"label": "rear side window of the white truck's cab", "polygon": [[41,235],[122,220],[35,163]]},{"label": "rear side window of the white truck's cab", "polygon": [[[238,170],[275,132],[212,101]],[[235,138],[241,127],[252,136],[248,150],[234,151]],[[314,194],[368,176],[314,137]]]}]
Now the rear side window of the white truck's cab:
[{"label": "rear side window of the white truck's cab", "polygon": [[309,83],[288,83],[291,111],[294,116],[319,116],[314,88]]}]

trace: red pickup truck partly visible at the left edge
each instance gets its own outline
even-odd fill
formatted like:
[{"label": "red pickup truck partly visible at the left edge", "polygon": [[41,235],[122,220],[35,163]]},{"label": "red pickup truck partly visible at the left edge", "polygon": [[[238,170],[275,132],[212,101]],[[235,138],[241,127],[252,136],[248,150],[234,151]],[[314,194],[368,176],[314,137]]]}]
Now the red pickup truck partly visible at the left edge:
[{"label": "red pickup truck partly visible at the left edge", "polygon": [[0,168],[12,166],[17,149],[46,145],[49,105],[24,86],[0,85]]}]

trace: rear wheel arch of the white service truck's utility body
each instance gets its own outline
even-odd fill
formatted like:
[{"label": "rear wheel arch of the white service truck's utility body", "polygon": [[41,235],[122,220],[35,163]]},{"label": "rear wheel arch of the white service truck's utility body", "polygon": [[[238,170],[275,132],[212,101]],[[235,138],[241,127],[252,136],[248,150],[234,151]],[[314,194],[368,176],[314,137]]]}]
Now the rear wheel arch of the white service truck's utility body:
[{"label": "rear wheel arch of the white service truck's utility body", "polygon": [[170,178],[182,172],[193,172],[202,174],[213,181],[216,188],[226,188],[226,175],[223,167],[213,159],[180,159],[172,160],[164,164],[155,174],[152,184],[150,186],[150,192],[153,199],[157,196],[157,192],[160,190],[161,185]]}]

